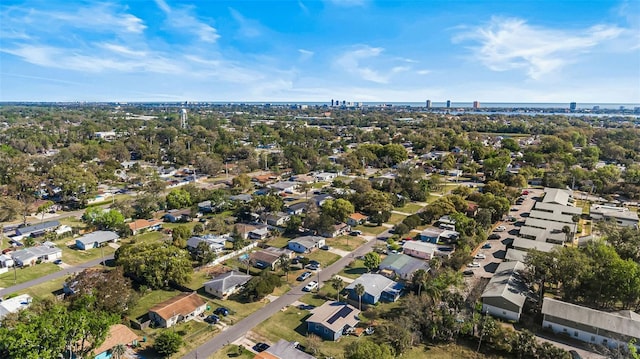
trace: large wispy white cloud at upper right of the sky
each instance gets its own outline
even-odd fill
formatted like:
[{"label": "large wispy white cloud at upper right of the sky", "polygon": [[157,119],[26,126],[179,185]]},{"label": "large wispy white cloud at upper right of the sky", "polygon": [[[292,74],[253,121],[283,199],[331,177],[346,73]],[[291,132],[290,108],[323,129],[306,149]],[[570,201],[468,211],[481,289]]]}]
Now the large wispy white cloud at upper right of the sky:
[{"label": "large wispy white cloud at upper right of the sky", "polygon": [[522,19],[494,17],[486,26],[468,29],[453,41],[477,42],[471,47],[474,57],[493,71],[524,69],[530,78],[539,79],[622,31],[605,25],[579,31],[556,30],[532,26]]}]

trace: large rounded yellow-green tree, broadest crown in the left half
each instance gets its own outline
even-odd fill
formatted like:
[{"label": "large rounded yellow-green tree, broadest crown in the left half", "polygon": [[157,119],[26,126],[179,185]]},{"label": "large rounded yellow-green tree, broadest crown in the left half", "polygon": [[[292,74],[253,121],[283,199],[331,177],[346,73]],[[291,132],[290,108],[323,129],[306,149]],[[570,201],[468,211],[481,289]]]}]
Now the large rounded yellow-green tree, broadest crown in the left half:
[{"label": "large rounded yellow-green tree, broadest crown in the left half", "polygon": [[189,252],[162,242],[123,245],[115,258],[126,274],[154,289],[184,285],[193,273]]}]

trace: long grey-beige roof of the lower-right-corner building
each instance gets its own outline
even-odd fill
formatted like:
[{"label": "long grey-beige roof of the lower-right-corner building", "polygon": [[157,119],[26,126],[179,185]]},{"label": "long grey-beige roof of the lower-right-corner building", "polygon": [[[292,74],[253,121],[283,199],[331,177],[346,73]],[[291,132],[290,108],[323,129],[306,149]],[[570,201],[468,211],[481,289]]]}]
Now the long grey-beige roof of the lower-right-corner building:
[{"label": "long grey-beige roof of the lower-right-corner building", "polygon": [[607,313],[553,298],[544,298],[542,314],[640,339],[640,318],[635,313],[623,316],[620,313]]}]

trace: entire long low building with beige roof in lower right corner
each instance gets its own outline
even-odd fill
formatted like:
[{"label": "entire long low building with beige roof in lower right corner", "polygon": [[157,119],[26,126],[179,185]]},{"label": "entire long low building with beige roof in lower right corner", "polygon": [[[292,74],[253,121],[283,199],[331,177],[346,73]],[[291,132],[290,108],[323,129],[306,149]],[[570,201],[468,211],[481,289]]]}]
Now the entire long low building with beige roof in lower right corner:
[{"label": "entire long low building with beige roof in lower right corner", "polygon": [[607,313],[545,297],[542,327],[591,345],[623,348],[635,339],[640,350],[640,314],[630,310]]}]

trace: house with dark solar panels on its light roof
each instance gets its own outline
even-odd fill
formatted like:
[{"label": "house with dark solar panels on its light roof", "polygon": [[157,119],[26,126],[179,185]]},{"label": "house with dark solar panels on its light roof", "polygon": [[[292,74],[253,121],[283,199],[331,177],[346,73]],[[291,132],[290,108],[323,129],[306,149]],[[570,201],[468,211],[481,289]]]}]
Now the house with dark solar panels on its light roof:
[{"label": "house with dark solar panels on its light roof", "polygon": [[360,311],[349,304],[325,302],[313,310],[306,320],[307,332],[325,340],[336,341],[346,329],[355,328],[360,322]]}]

